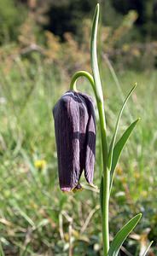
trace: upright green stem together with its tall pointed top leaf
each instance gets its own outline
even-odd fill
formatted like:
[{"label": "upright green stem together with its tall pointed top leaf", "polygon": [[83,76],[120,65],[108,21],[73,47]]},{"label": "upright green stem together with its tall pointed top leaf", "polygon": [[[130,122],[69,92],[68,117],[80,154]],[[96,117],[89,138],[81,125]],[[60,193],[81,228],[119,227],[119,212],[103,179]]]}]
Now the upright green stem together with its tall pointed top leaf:
[{"label": "upright green stem together with its tall pointed top leaf", "polygon": [[108,207],[109,207],[109,180],[110,173],[108,171],[108,144],[107,144],[107,131],[106,131],[106,120],[105,111],[103,106],[103,92],[102,82],[99,73],[98,61],[97,61],[97,50],[96,50],[96,38],[99,20],[99,3],[96,5],[96,11],[93,18],[93,26],[90,38],[90,61],[93,72],[94,81],[96,84],[96,102],[99,111],[99,119],[101,126],[101,137],[102,137],[102,160],[103,160],[103,184],[101,186],[101,204],[102,204],[102,236],[103,236],[103,256],[108,255],[109,249],[109,228],[108,228]]}]

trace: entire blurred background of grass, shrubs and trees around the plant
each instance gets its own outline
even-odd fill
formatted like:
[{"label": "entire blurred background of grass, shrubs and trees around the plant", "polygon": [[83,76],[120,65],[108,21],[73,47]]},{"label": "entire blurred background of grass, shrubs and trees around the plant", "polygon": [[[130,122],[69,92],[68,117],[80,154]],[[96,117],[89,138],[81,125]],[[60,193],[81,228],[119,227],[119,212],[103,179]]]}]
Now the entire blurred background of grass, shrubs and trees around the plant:
[{"label": "entire blurred background of grass, shrubs and trees around the plant", "polygon": [[[151,255],[156,255],[157,3],[100,2],[98,47],[108,140],[123,98],[135,82],[137,90],[125,109],[119,135],[132,120],[142,118],[117,168],[110,202],[111,239],[122,224],[142,212],[142,221],[120,255],[139,255],[151,240]],[[71,249],[74,256],[102,255],[99,191],[83,178],[83,192],[61,193],[51,113],[69,89],[73,72],[90,71],[95,5],[90,0],[0,0],[0,242],[6,255],[66,256]],[[79,83],[80,90],[92,95],[84,79]],[[99,186],[99,125],[97,130]]]}]

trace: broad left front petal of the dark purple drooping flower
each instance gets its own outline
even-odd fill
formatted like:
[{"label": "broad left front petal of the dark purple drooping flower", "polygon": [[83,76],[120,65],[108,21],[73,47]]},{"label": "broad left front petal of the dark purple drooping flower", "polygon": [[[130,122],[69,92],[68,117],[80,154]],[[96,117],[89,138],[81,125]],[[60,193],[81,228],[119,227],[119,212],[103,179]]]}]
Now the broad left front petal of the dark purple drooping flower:
[{"label": "broad left front petal of the dark purple drooping flower", "polygon": [[80,152],[84,148],[88,112],[84,101],[77,93],[70,91],[61,96],[53,113],[60,186],[63,191],[70,191],[77,187],[84,168],[84,156],[80,158]]}]

